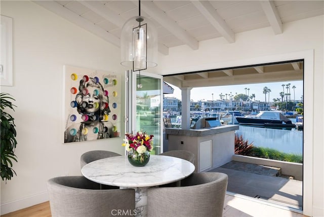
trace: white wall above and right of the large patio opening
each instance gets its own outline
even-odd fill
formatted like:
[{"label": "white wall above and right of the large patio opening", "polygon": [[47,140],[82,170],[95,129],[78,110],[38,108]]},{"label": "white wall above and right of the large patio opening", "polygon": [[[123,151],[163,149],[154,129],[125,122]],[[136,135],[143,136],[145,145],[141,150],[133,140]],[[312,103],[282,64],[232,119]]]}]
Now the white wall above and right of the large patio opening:
[{"label": "white wall above and right of the large patio opening", "polygon": [[304,214],[324,216],[323,16],[283,27],[278,35],[270,27],[238,33],[233,44],[218,38],[200,42],[196,51],[172,48],[168,56],[159,56],[154,71],[167,75],[305,58]]}]

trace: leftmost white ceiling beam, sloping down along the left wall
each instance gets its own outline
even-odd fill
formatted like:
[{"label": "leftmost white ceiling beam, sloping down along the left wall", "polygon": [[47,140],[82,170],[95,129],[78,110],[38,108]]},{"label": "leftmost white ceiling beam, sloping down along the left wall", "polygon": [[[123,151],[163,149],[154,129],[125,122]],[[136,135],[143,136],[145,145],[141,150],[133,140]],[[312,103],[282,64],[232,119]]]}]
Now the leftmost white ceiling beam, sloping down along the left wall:
[{"label": "leftmost white ceiling beam, sloping down along the left wall", "polygon": [[101,27],[91,23],[87,19],[78,16],[77,14],[71,12],[67,8],[62,5],[54,2],[54,1],[33,1],[33,3],[46,8],[49,11],[63,17],[64,19],[74,23],[75,25],[88,30],[89,32],[97,35],[103,40],[115,45],[116,47],[120,47],[120,40],[115,37],[115,35],[111,34],[108,31],[105,31]]}]

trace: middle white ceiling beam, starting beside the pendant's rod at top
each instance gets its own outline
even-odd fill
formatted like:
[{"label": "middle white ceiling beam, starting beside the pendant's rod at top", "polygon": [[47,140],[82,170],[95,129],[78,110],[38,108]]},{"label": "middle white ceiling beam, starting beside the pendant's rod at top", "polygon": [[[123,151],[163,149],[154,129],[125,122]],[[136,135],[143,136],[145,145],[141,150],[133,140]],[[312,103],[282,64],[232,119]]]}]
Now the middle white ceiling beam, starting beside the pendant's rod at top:
[{"label": "middle white ceiling beam, starting beside the pendant's rod at top", "polygon": [[[133,1],[132,1],[133,2]],[[133,2],[138,6],[137,2]],[[179,40],[188,45],[191,49],[197,50],[199,47],[198,41],[191,37],[186,30],[181,28],[174,20],[167,16],[167,14],[155,6],[152,1],[142,1],[141,10],[145,11],[152,19],[165,27],[168,31],[175,35]]]}]

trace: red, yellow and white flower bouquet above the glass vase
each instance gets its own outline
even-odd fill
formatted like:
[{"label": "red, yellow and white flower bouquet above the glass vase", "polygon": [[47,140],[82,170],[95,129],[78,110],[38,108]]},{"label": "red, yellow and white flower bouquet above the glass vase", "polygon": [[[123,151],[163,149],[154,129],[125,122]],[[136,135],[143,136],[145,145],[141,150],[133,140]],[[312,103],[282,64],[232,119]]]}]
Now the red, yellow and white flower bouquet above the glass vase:
[{"label": "red, yellow and white flower bouquet above the glass vase", "polygon": [[153,150],[153,135],[148,135],[146,132],[137,132],[126,133],[127,139],[125,139],[125,143],[122,146],[126,146],[127,151],[137,152],[138,154],[143,154],[144,152]]}]

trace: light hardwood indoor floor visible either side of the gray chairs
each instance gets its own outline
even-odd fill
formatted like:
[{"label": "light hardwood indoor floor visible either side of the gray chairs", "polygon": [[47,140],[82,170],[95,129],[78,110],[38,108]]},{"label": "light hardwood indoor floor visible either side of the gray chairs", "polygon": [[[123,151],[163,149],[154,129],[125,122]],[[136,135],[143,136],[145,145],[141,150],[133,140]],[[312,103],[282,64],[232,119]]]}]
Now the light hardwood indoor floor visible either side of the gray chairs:
[{"label": "light hardwood indoor floor visible either side of the gray chairs", "polygon": [[[50,203],[45,202],[25,209],[11,212],[1,217],[51,217]],[[240,217],[240,216],[280,216],[280,217],[302,217],[303,214],[292,212],[244,198],[225,196],[225,205],[223,217]],[[90,216],[89,216],[90,217]],[[198,217],[198,216],[197,216]]]}]

